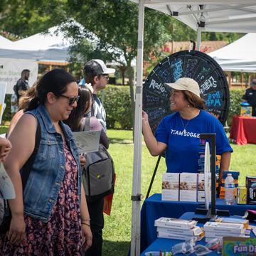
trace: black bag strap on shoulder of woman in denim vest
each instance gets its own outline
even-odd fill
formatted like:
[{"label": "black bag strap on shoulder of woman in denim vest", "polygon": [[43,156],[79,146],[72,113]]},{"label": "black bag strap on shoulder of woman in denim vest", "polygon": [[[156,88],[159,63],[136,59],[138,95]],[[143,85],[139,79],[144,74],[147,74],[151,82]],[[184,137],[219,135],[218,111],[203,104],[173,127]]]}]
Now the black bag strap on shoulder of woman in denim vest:
[{"label": "black bag strap on shoulder of woman in denim vest", "polygon": [[28,181],[28,176],[30,174],[33,162],[35,161],[36,158],[36,154],[40,145],[40,141],[41,141],[41,126],[40,123],[36,117],[36,142],[35,142],[35,148],[33,150],[33,153],[31,154],[31,156],[29,157],[29,159],[26,161],[26,163],[23,165],[23,171],[21,174],[21,179],[22,179],[22,188],[23,191],[25,190],[26,187],[26,182]]}]

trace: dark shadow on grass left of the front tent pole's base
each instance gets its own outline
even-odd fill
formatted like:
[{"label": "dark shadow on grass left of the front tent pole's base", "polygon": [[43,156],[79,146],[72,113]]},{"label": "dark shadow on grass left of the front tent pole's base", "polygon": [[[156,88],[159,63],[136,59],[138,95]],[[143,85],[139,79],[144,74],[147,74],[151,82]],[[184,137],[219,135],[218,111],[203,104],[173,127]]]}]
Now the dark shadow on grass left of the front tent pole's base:
[{"label": "dark shadow on grass left of the front tent pole's base", "polygon": [[127,256],[131,242],[113,242],[104,240],[102,256]]}]

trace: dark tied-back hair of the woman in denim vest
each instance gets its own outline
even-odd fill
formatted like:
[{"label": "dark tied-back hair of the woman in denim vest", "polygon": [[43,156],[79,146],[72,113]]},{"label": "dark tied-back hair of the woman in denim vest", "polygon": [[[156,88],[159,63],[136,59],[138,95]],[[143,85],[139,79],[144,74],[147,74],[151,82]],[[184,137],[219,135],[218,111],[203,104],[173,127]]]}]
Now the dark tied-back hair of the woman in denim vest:
[{"label": "dark tied-back hair of the woman in denim vest", "polygon": [[54,69],[42,76],[36,87],[37,97],[28,105],[28,110],[34,110],[39,104],[45,104],[48,92],[60,97],[67,91],[68,84],[76,82],[73,75],[63,69]]}]

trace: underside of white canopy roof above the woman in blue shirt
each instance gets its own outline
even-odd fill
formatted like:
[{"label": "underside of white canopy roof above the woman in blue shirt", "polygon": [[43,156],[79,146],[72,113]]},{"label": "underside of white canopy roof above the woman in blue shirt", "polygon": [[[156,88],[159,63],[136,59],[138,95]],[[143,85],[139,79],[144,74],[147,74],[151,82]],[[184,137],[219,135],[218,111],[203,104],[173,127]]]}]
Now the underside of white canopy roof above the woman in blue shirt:
[{"label": "underside of white canopy roof above the woman in blue shirt", "polygon": [[[139,3],[139,0],[131,0]],[[256,31],[255,0],[146,0],[145,6],[174,16],[197,31]]]}]

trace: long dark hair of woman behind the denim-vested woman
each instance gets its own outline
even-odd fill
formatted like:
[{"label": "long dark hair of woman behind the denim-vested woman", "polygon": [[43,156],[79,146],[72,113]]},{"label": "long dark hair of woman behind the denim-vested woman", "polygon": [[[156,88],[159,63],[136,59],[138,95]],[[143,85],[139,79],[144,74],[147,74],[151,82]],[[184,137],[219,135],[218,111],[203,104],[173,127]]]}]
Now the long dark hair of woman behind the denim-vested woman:
[{"label": "long dark hair of woman behind the denim-vested woman", "polygon": [[[72,110],[68,119],[63,120],[73,132],[79,132],[81,130],[82,117],[85,116],[85,112],[89,110],[92,102],[92,92],[86,85],[79,85],[78,95],[80,97],[77,107]],[[86,102],[88,102],[88,104],[86,104]]]}]

